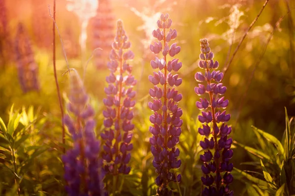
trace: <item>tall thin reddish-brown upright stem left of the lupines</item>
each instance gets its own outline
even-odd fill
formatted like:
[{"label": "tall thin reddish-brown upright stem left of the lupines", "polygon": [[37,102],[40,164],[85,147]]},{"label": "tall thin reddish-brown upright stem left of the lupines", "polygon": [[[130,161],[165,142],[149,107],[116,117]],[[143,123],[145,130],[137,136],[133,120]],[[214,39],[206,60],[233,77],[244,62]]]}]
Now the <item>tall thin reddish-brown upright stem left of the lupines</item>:
[{"label": "tall thin reddish-brown upright stem left of the lupines", "polygon": [[[49,7],[49,14],[53,19],[53,27],[52,27],[52,34],[53,34],[53,71],[54,71],[54,78],[55,82],[57,85],[57,92],[58,92],[58,97],[59,97],[59,107],[60,107],[60,113],[61,113],[61,125],[62,125],[62,144],[65,144],[65,130],[64,130],[64,122],[63,122],[63,106],[61,103],[61,96],[59,92],[59,81],[58,81],[58,76],[57,76],[57,68],[56,68],[56,40],[55,40],[55,18],[56,18],[56,0],[53,0],[53,16],[51,15],[50,12],[50,7]],[[62,148],[63,153],[65,153],[65,148]]]}]

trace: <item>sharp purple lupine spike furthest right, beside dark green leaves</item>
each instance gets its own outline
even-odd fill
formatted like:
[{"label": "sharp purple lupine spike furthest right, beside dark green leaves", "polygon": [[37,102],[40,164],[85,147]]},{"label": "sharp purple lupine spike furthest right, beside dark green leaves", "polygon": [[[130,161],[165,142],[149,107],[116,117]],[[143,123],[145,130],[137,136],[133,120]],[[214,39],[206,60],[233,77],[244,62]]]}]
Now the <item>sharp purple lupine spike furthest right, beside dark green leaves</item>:
[{"label": "sharp purple lupine spike furthest right, beside dark green leaves", "polygon": [[[195,87],[197,95],[208,94],[206,98],[200,98],[196,102],[197,108],[202,110],[202,115],[198,119],[203,123],[203,127],[199,128],[199,133],[206,136],[204,141],[200,142],[204,149],[204,154],[200,156],[200,160],[204,162],[202,171],[204,176],[201,178],[205,189],[203,196],[233,196],[234,192],[230,191],[229,184],[233,182],[233,176],[230,173],[234,166],[229,163],[233,157],[232,138],[228,135],[232,131],[232,127],[226,125],[231,118],[230,114],[225,109],[229,101],[224,97],[219,98],[226,91],[226,87],[220,83],[223,78],[223,73],[216,71],[218,61],[213,61],[213,53],[209,47],[207,39],[201,39],[201,61],[199,67],[205,69],[205,73],[197,72],[195,79],[198,84]],[[206,112],[207,111],[207,112]]]}]

